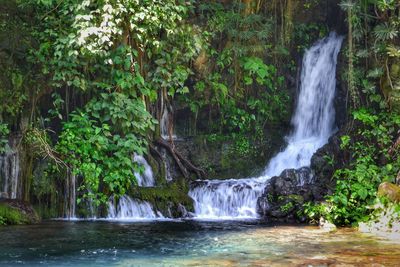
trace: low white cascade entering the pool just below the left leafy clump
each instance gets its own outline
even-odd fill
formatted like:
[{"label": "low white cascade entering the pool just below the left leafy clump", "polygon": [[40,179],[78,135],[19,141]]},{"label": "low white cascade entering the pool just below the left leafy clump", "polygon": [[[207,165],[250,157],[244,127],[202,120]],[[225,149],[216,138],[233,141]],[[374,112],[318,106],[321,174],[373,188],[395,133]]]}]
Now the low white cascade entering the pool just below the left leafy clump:
[{"label": "low white cascade entering the pool just below the left leafy clump", "polygon": [[129,196],[122,196],[118,203],[115,203],[113,197],[108,203],[108,217],[112,220],[143,220],[163,218],[157,212],[154,212],[153,207],[149,202],[132,199]]}]

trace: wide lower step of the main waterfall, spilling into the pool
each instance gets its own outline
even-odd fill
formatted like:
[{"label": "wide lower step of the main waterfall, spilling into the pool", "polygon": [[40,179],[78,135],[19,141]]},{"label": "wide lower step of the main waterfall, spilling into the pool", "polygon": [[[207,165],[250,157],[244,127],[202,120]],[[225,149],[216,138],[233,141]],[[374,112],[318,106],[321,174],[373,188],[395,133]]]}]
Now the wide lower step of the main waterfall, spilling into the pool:
[{"label": "wide lower step of the main waterfall, spilling into the pool", "polygon": [[197,218],[256,218],[257,199],[268,177],[199,181],[189,192]]}]

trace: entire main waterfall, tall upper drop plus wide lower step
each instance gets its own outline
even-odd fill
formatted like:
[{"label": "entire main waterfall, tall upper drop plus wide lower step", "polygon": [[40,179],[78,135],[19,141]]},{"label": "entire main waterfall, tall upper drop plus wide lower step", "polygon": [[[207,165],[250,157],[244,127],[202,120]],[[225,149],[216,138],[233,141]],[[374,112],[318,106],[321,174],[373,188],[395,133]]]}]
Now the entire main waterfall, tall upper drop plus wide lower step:
[{"label": "entire main waterfall, tall upper drop plus wide lower step", "polygon": [[284,169],[309,166],[312,155],[327,143],[334,131],[333,106],[337,55],[343,37],[331,33],[306,51],[293,133],[286,149],[271,159],[258,178],[202,181],[189,192],[198,218],[238,219],[257,217],[257,199],[267,180]]}]

